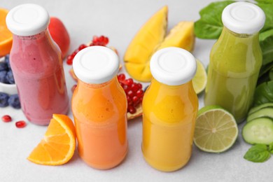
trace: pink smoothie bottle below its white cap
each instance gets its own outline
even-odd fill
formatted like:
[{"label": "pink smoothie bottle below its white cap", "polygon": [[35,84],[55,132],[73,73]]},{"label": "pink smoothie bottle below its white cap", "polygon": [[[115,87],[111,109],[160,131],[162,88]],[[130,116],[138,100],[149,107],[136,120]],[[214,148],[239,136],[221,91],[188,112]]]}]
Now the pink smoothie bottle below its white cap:
[{"label": "pink smoothie bottle below its white cap", "polygon": [[48,125],[52,113],[67,113],[62,58],[48,30],[34,36],[13,35],[10,66],[22,111],[31,123]]}]

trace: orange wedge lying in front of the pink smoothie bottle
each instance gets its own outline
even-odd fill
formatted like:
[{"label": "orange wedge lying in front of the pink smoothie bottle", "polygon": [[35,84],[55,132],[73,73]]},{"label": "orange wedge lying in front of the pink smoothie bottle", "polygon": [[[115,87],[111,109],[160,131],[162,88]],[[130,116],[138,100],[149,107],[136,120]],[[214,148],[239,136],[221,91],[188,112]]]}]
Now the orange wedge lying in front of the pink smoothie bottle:
[{"label": "orange wedge lying in front of the pink smoothie bottle", "polygon": [[53,114],[41,142],[27,158],[38,165],[63,165],[76,148],[76,131],[72,120],[65,115]]}]

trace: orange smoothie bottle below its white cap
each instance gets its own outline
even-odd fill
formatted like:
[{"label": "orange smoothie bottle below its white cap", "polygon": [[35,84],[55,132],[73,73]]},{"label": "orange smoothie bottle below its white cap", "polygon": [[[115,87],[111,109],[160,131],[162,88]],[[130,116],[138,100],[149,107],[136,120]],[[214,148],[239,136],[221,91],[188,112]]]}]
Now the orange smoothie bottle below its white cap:
[{"label": "orange smoothie bottle below its white cap", "polygon": [[87,165],[110,169],[127,154],[127,99],[115,77],[99,85],[83,83],[73,92],[78,153]]}]

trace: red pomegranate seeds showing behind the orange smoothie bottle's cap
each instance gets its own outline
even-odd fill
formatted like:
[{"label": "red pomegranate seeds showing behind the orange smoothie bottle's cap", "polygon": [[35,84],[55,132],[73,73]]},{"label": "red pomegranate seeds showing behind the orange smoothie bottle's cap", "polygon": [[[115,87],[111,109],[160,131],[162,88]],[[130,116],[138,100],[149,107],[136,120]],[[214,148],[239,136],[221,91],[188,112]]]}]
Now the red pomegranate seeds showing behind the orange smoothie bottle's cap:
[{"label": "red pomegranate seeds showing behind the orange smoothie bottle's cap", "polygon": [[74,50],[72,52],[71,55],[69,55],[67,57],[66,63],[71,65],[73,63],[73,59],[76,56],[76,54],[84,49],[87,48],[88,46],[92,46],[92,45],[102,45],[102,46],[106,46],[109,43],[109,38],[106,36],[93,36],[93,40],[92,43],[90,43],[90,45],[85,45],[85,44],[81,44],[76,50]]}]

